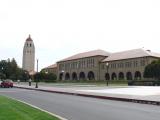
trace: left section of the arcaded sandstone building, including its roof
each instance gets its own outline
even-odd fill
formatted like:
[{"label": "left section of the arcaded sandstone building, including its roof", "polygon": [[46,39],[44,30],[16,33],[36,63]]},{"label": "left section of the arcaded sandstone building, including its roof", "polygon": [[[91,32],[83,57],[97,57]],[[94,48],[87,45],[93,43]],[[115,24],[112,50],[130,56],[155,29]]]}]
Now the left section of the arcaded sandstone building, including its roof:
[{"label": "left section of the arcaded sandstone building, including its roof", "polygon": [[59,80],[98,80],[100,62],[110,53],[94,50],[73,55],[57,62]]}]

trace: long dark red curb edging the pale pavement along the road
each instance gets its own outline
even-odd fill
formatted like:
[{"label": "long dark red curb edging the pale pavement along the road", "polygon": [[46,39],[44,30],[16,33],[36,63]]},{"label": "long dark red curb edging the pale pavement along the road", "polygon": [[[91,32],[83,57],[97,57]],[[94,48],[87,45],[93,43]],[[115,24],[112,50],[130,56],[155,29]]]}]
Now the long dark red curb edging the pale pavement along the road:
[{"label": "long dark red curb edging the pale pavement along the road", "polygon": [[102,95],[91,95],[84,93],[74,93],[74,92],[64,92],[64,91],[55,91],[55,90],[45,90],[45,89],[37,89],[37,88],[28,88],[28,87],[19,87],[14,86],[15,88],[28,89],[28,90],[36,90],[50,93],[58,93],[58,94],[67,94],[67,95],[75,95],[75,96],[83,96],[83,97],[91,97],[91,98],[99,98],[99,99],[107,99],[107,100],[115,100],[115,101],[124,101],[124,102],[133,102],[140,104],[149,104],[149,105],[157,105],[160,106],[160,101],[151,101],[151,100],[139,100],[139,99],[131,99],[131,98],[121,98],[121,97],[110,97],[110,96],[102,96]]}]

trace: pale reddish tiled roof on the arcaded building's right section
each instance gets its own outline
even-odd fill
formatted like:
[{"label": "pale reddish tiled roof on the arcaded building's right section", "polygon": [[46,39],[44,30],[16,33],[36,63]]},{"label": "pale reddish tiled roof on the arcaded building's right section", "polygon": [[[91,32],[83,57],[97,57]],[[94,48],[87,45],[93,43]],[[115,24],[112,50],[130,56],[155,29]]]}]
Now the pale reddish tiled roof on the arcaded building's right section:
[{"label": "pale reddish tiled roof on the arcaded building's right section", "polygon": [[133,49],[133,50],[127,50],[123,52],[113,53],[109,57],[104,59],[102,62],[130,59],[130,58],[139,58],[139,57],[145,57],[145,56],[152,56],[152,57],[160,58],[160,54],[151,52],[150,50]]}]

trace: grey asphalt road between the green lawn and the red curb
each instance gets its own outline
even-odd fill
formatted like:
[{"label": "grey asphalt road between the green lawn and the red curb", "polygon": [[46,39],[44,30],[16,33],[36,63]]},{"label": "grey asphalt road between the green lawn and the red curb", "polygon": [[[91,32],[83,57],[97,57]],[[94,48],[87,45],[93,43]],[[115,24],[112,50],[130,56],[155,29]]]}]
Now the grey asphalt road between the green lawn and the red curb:
[{"label": "grey asphalt road between the green lawn and the red curb", "polygon": [[0,88],[0,95],[25,101],[68,120],[160,119],[160,107],[155,105],[102,100],[17,88]]}]

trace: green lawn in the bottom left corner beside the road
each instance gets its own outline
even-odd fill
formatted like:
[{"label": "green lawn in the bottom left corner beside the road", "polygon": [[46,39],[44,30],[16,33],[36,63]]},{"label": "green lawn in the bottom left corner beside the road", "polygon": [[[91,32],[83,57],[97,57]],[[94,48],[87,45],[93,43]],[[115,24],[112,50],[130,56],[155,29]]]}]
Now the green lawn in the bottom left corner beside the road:
[{"label": "green lawn in the bottom left corner beside the road", "polygon": [[0,96],[0,120],[59,120],[21,102]]}]

